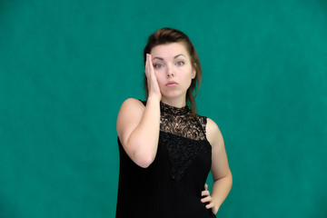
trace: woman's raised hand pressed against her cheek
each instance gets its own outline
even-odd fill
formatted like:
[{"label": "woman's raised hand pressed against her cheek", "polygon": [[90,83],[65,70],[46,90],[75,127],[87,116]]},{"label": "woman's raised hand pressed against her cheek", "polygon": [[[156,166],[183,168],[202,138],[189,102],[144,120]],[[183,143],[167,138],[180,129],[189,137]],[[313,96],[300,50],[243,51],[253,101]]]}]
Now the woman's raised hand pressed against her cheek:
[{"label": "woman's raised hand pressed against her cheek", "polygon": [[157,78],[154,74],[154,64],[152,62],[152,55],[146,54],[146,62],[145,62],[145,75],[147,78],[148,84],[148,93],[149,97],[156,97],[159,101],[162,98],[162,94],[160,92],[159,84]]}]

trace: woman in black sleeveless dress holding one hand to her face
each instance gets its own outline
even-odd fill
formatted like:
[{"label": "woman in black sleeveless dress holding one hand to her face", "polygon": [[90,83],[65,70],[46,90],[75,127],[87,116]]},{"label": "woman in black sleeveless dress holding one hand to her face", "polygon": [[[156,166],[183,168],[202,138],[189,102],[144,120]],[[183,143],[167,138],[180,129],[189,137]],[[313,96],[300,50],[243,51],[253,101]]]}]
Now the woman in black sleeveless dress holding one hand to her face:
[{"label": "woman in black sleeveless dress holding one hand to her face", "polygon": [[[218,126],[196,114],[197,52],[187,35],[162,28],[150,35],[144,64],[147,101],[127,99],[117,117],[116,217],[215,217],[232,173]],[[210,170],[212,195],[205,184]]]}]

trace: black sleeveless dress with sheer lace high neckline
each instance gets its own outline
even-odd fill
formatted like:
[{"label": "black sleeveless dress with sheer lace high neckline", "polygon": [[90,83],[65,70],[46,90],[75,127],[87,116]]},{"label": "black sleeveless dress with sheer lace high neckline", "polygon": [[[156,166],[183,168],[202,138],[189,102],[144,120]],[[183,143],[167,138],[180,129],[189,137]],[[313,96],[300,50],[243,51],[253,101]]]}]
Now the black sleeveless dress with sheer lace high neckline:
[{"label": "black sleeveless dress with sheer lace high neckline", "polygon": [[[144,105],[146,102],[143,102]],[[116,218],[208,218],[201,196],[211,169],[206,117],[160,103],[157,154],[147,168],[134,163],[118,138],[120,172]]]}]

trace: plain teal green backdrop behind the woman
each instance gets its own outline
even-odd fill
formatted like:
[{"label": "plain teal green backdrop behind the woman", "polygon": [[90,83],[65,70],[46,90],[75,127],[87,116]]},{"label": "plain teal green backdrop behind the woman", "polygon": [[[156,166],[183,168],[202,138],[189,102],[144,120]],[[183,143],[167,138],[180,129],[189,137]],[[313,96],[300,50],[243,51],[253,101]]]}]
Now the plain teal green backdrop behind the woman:
[{"label": "plain teal green backdrop behind the woman", "polygon": [[116,116],[164,26],[193,40],[223,133],[217,217],[327,217],[326,0],[0,0],[1,218],[114,217]]}]

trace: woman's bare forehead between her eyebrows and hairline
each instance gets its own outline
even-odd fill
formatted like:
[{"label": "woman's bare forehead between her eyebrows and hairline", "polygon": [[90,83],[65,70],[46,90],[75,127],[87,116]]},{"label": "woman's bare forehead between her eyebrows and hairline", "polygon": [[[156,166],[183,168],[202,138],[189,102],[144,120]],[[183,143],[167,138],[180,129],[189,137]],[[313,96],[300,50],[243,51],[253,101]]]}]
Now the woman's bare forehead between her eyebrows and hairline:
[{"label": "woman's bare forehead between her eyebrows and hairline", "polygon": [[189,56],[186,47],[183,43],[170,43],[164,45],[156,45],[151,50],[151,55],[163,58],[172,58],[177,54],[184,54]]}]

